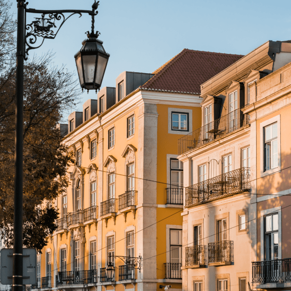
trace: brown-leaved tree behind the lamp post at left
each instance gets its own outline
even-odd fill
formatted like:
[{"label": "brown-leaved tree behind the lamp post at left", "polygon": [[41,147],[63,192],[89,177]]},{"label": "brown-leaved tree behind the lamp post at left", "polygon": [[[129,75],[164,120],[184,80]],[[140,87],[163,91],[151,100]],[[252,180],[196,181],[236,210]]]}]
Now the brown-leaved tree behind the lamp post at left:
[{"label": "brown-leaved tree behind the lamp post at left", "polygon": [[[9,4],[3,0],[0,0],[1,7],[9,10]],[[6,19],[8,12],[4,16]],[[0,23],[5,20],[4,16],[0,14]],[[7,19],[12,21],[12,18]],[[7,38],[8,33],[2,30],[0,36]],[[4,45],[3,48],[6,51]],[[61,143],[57,125],[62,114],[75,105],[79,96],[73,74],[64,66],[53,66],[51,61],[51,54],[34,57],[25,62],[24,72],[23,242],[39,251],[47,244],[49,233],[56,229],[54,221],[58,210],[52,202],[68,186],[67,164],[74,163],[73,155],[68,154],[68,148]],[[16,64],[13,58],[6,58],[6,62],[7,65],[0,70],[0,232],[6,246],[11,247]]]}]

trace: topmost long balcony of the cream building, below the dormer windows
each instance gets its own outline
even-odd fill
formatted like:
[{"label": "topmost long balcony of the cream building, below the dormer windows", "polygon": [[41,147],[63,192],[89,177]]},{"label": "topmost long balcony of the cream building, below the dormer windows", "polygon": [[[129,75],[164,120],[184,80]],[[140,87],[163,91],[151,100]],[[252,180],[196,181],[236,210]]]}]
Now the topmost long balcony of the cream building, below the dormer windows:
[{"label": "topmost long balcony of the cream building, below the dormer windows", "polygon": [[243,114],[241,109],[228,113],[180,138],[178,140],[178,155],[182,155],[199,146],[209,144],[249,123],[249,115]]}]

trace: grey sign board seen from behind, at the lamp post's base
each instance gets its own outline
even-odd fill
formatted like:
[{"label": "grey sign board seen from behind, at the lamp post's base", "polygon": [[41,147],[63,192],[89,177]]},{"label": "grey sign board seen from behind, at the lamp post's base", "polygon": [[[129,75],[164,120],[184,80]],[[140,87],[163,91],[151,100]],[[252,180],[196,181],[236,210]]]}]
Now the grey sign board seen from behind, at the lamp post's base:
[{"label": "grey sign board seen from behind, at the lamp post's base", "polygon": [[[23,249],[23,285],[36,284],[36,249]],[[1,249],[1,284],[12,285],[13,249]]]}]

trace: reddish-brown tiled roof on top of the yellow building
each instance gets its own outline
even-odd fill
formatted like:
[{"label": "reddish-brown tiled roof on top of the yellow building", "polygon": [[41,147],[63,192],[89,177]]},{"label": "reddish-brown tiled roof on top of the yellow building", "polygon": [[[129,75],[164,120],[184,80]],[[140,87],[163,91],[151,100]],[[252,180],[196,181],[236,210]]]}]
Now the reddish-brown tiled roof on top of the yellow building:
[{"label": "reddish-brown tiled roof on top of the yellow building", "polygon": [[242,55],[183,49],[173,59],[153,72],[140,88],[178,93],[200,94],[200,85],[209,80]]}]

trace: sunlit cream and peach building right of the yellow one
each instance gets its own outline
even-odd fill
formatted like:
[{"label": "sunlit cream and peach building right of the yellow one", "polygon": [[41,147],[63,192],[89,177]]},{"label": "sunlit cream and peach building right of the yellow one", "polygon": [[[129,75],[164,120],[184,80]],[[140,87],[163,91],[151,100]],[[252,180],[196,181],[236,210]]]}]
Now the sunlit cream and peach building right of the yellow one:
[{"label": "sunlit cream and peach building right of the yellow one", "polygon": [[185,291],[291,287],[290,62],[268,41],[201,85],[203,126],[178,141]]}]

